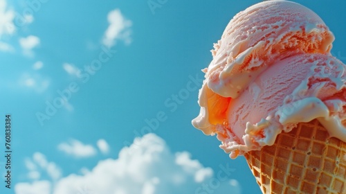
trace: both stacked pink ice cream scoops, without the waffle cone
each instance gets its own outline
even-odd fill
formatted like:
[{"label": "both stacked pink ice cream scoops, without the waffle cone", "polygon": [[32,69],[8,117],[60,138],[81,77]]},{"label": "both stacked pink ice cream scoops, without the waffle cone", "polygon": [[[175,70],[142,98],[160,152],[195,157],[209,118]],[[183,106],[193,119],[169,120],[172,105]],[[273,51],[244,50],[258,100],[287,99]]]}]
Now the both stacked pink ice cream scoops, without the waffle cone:
[{"label": "both stacked pink ice cream scoops, without the waffle cone", "polygon": [[322,19],[298,3],[265,1],[239,12],[203,70],[192,124],[217,134],[231,158],[314,118],[346,142],[345,64],[330,55],[333,41]]}]

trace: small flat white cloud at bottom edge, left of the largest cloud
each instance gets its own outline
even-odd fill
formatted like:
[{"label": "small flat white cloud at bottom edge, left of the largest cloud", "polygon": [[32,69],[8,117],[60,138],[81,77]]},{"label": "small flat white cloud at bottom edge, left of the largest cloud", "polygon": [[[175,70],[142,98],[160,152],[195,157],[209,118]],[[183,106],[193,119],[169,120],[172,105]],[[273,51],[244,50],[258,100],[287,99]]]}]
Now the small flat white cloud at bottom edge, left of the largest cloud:
[{"label": "small flat white cloud at bottom edge, left of the largest cloud", "polygon": [[16,194],[50,194],[51,182],[37,181],[30,183],[19,183],[15,185]]}]

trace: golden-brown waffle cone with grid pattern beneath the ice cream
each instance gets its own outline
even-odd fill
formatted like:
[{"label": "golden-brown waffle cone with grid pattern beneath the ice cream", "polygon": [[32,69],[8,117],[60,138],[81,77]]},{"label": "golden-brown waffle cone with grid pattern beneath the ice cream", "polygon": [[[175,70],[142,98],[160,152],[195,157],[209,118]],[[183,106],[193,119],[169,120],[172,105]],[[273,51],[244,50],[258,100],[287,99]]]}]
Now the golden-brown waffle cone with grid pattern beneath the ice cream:
[{"label": "golden-brown waffle cone with grid pattern beneath the ice cream", "polygon": [[346,193],[346,143],[317,120],[245,157],[262,193]]}]

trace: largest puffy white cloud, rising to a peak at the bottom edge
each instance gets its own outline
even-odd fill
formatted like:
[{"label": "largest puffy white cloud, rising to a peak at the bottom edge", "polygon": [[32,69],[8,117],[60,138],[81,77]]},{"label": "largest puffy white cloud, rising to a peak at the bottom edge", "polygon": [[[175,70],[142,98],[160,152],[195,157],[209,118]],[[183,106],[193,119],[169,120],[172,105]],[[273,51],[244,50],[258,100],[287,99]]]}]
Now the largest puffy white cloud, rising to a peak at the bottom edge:
[{"label": "largest puffy white cloud, rising to a peak at the bottom edge", "polygon": [[[181,159],[184,156],[185,158]],[[183,161],[177,164],[176,161]],[[189,161],[190,160],[190,161]],[[194,163],[194,166],[186,164]],[[194,181],[199,161],[191,161],[186,152],[174,155],[165,141],[155,134],[136,139],[120,151],[118,159],[100,161],[90,173],[69,175],[60,179],[54,193],[77,193],[86,185],[95,193],[193,193],[200,183]],[[175,182],[174,177],[182,179]],[[211,175],[209,175],[209,178]]]}]

